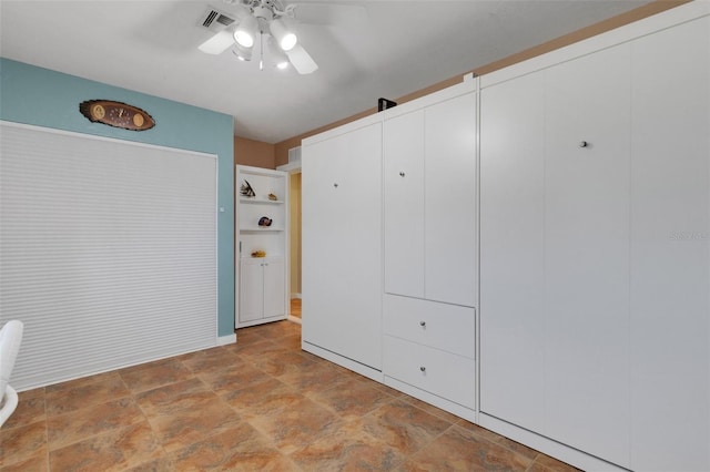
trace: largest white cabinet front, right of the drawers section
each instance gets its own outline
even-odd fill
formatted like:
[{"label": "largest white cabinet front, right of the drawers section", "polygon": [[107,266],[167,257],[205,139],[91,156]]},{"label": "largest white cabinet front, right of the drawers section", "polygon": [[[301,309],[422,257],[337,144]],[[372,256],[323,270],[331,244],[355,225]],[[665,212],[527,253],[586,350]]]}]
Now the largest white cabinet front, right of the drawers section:
[{"label": "largest white cabinet front, right of the drawers section", "polygon": [[710,19],[505,73],[480,92],[481,423],[710,469]]}]

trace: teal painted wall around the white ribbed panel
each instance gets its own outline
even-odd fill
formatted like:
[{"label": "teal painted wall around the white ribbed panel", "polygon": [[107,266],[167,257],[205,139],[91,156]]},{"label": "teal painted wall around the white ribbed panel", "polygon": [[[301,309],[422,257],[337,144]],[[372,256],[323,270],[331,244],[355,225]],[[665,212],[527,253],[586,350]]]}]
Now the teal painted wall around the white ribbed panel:
[{"label": "teal painted wall around the white ribbed panel", "polygon": [[[155,126],[120,130],[79,113],[84,100],[145,110]],[[0,58],[0,120],[217,155],[217,330],[234,334],[234,131],[232,116]]]}]

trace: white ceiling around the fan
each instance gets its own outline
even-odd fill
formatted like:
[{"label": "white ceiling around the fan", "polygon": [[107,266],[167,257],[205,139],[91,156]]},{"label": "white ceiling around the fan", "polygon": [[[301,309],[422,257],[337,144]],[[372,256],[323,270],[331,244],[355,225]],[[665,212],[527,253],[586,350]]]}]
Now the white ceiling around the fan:
[{"label": "white ceiling around the fan", "polygon": [[[0,0],[2,57],[234,116],[276,143],[635,9],[647,0],[284,1],[308,18],[310,75],[197,45],[224,0]],[[358,7],[358,8],[353,8]],[[323,13],[324,21],[314,21]],[[327,21],[326,21],[327,20]],[[324,24],[328,23],[328,24]],[[140,105],[140,104],[139,104]]]}]

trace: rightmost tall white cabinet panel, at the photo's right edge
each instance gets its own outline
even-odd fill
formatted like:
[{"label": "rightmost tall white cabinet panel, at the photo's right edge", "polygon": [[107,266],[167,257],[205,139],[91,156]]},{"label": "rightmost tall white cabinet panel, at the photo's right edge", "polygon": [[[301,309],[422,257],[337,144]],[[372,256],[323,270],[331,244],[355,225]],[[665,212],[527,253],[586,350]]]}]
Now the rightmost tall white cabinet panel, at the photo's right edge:
[{"label": "rightmost tall white cabinet panel, at the photo's right edge", "polygon": [[710,18],[631,47],[631,466],[707,471]]}]

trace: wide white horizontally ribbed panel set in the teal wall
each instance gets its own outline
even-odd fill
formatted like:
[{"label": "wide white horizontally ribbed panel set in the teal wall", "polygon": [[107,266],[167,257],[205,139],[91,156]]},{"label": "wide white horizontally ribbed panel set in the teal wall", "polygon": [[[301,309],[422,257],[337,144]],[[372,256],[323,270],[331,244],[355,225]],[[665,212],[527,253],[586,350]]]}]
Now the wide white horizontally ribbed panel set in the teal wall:
[{"label": "wide white horizontally ribbed panel set in the teal wall", "polygon": [[216,156],[0,123],[21,390],[216,345]]}]

